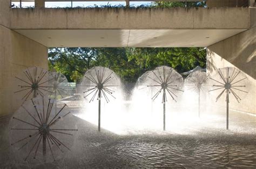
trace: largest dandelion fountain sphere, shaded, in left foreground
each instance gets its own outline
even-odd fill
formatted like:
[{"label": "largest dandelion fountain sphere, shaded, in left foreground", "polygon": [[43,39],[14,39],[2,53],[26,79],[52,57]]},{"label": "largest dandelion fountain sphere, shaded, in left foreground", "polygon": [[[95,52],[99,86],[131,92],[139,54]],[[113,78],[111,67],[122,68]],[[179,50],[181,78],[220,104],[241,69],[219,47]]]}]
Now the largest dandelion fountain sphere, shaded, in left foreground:
[{"label": "largest dandelion fountain sphere, shaded, in left foreground", "polygon": [[11,146],[18,158],[45,163],[70,150],[72,132],[78,130],[72,114],[65,109],[66,105],[54,113],[52,107],[55,104],[55,100],[48,97],[37,97],[25,102],[15,112],[9,127]]}]

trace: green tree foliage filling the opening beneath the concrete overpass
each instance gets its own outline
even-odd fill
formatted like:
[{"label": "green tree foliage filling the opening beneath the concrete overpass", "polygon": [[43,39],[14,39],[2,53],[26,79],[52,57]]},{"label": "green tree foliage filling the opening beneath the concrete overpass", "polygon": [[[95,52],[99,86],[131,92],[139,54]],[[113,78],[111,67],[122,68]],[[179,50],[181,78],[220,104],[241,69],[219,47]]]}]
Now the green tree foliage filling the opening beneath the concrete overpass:
[{"label": "green tree foliage filling the opening beneath the concrete overpass", "polygon": [[201,48],[51,48],[49,70],[62,72],[70,82],[79,82],[86,70],[105,66],[124,82],[157,66],[171,66],[185,72],[197,65],[205,67],[206,51]]}]

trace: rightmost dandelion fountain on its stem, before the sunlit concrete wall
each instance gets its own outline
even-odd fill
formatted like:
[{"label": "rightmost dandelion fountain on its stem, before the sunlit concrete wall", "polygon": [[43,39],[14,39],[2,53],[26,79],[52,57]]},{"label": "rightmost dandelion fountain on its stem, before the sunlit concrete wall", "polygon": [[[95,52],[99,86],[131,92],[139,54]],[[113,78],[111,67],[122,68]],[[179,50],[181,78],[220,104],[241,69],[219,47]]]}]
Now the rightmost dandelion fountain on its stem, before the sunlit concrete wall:
[{"label": "rightmost dandelion fountain on its stem, before the sunlit concrete wall", "polygon": [[248,93],[246,90],[247,77],[240,70],[234,67],[223,67],[218,69],[217,74],[210,78],[214,84],[212,91],[221,91],[216,97],[216,102],[226,92],[226,129],[228,130],[228,110],[230,103],[230,93],[232,93],[235,100],[238,103],[241,101],[241,97]]}]

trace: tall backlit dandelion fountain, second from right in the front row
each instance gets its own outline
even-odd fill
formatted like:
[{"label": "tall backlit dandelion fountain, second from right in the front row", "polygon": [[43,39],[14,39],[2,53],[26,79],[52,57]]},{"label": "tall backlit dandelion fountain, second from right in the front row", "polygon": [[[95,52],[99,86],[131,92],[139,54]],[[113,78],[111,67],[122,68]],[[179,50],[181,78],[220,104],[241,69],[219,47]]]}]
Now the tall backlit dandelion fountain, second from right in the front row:
[{"label": "tall backlit dandelion fountain, second from right in the front row", "polygon": [[160,66],[149,72],[145,81],[140,82],[140,85],[157,89],[157,92],[151,98],[152,100],[155,100],[160,93],[163,93],[163,130],[165,131],[165,104],[167,96],[177,102],[178,95],[183,92],[183,77],[171,67]]}]

